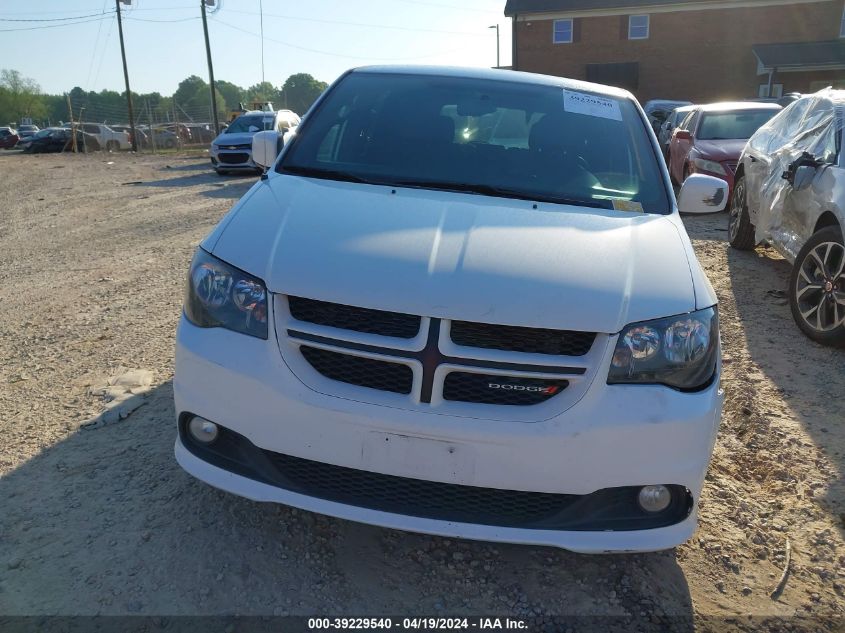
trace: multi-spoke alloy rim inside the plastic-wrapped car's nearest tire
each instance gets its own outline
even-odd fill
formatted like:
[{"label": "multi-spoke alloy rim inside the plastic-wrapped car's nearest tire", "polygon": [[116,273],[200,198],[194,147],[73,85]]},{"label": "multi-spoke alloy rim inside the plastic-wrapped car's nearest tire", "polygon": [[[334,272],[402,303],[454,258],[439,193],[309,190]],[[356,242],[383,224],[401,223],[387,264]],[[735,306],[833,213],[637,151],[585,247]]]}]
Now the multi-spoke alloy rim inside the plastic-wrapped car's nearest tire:
[{"label": "multi-spoke alloy rim inside the plastic-wrapped car's nearest tire", "polygon": [[799,265],[795,299],[801,318],[817,332],[845,325],[845,246],[822,242]]}]

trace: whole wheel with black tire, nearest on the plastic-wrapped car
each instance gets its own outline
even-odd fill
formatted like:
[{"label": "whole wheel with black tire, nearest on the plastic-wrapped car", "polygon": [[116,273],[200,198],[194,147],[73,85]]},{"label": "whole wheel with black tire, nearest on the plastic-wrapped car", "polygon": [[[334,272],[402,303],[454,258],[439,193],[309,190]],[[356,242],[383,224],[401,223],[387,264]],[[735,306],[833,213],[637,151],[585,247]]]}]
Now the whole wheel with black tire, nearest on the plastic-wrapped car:
[{"label": "whole wheel with black tire, nearest on the plastic-wrapped car", "polygon": [[792,317],[810,339],[845,348],[845,243],[838,226],[816,232],[789,278]]}]

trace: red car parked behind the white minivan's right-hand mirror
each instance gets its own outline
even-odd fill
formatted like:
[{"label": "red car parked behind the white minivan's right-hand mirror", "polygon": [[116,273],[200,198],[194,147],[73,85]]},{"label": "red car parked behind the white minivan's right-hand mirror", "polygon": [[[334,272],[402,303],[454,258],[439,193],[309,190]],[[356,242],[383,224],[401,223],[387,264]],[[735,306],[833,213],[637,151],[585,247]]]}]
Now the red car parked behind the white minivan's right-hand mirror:
[{"label": "red car parked behind the white minivan's right-hand mirror", "polygon": [[690,174],[716,176],[733,190],[734,172],[745,143],[781,110],[775,103],[712,103],[699,106],[678,124],[669,141],[669,175],[681,184]]}]

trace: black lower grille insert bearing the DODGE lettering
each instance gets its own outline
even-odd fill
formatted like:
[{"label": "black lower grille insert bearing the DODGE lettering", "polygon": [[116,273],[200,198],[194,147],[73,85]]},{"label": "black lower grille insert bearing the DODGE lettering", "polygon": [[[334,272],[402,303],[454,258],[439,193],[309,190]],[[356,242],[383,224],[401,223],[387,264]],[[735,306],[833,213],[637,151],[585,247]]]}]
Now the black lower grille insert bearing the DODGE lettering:
[{"label": "black lower grille insert bearing the DODGE lettering", "polygon": [[495,376],[453,371],[443,383],[443,399],[481,404],[532,405],[566,389],[566,380]]}]

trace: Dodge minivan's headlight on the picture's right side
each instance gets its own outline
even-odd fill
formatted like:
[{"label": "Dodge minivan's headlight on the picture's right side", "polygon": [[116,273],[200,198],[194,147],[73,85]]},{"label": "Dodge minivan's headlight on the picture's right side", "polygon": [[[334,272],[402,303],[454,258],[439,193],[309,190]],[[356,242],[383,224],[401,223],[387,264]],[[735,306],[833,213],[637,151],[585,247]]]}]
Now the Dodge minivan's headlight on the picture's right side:
[{"label": "Dodge minivan's headlight on the picture's right side", "polygon": [[716,307],[655,321],[632,323],[619,333],[608,384],[649,383],[695,391],[716,371]]}]

